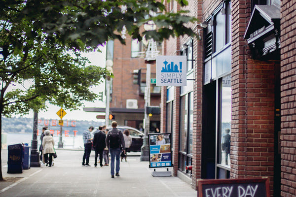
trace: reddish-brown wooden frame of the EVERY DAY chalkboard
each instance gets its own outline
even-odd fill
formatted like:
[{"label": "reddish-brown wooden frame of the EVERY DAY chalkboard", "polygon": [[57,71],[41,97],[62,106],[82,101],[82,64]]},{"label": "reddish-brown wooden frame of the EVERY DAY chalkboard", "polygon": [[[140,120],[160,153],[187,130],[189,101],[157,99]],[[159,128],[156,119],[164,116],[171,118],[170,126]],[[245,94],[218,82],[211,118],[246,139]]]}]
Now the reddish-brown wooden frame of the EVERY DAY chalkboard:
[{"label": "reddish-brown wooden frame of the EVERY DAY chalkboard", "polygon": [[246,178],[246,179],[198,179],[198,196],[203,196],[203,187],[205,185],[220,185],[220,184],[239,184],[239,183],[265,183],[266,197],[270,197],[269,179],[268,178]]}]

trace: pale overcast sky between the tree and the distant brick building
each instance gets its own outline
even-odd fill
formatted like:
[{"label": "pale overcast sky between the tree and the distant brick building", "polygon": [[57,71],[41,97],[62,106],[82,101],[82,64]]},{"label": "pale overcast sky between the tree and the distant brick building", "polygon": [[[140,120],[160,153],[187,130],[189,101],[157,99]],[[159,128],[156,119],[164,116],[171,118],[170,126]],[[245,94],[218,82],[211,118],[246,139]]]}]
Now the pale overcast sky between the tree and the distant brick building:
[{"label": "pale overcast sky between the tree and the distant brick building", "polygon": [[[102,53],[100,52],[91,52],[91,53],[83,53],[82,55],[84,57],[87,57],[89,61],[91,62],[91,65],[96,66],[102,66],[105,67],[106,63],[106,47],[100,47],[102,50]],[[105,91],[105,82],[100,84],[98,87],[91,88],[93,92],[98,94],[99,92]],[[56,114],[61,107],[50,105],[49,103],[46,103],[48,106],[47,111],[39,111],[38,113],[38,119],[57,119],[59,120],[60,117]],[[96,100],[95,102],[85,102],[84,107],[105,107],[106,106],[106,97],[105,93],[103,94],[103,102]],[[104,115],[96,112],[84,112],[83,107],[80,107],[80,110],[74,110],[70,111],[67,109],[64,109],[66,111],[66,115],[63,117],[63,120],[88,120],[88,121],[97,121],[96,119],[97,115]],[[31,112],[29,115],[25,115],[23,117],[32,117],[33,118],[33,112]]]}]

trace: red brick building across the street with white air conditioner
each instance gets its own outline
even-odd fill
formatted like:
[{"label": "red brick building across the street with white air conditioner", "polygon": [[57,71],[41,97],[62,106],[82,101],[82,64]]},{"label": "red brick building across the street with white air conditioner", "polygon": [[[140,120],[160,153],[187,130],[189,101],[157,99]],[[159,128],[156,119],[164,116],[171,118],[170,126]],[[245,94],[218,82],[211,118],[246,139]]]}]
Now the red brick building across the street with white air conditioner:
[{"label": "red brick building across the street with white air conditioner", "polygon": [[[112,67],[114,78],[111,78],[110,114],[114,115],[118,125],[143,128],[144,90],[146,86],[145,49],[142,42],[126,36],[126,44],[118,40],[108,41],[106,45],[106,65]],[[139,71],[141,70],[141,71]],[[137,73],[139,71],[139,76]],[[141,73],[141,75],[140,75]],[[151,66],[151,77],[155,75],[155,66]],[[135,79],[135,77],[139,77]],[[141,78],[141,79],[140,79]],[[160,87],[151,84],[151,106],[159,106]],[[89,112],[105,112],[105,108],[84,108]],[[160,127],[160,116],[150,117],[150,131]]]}]

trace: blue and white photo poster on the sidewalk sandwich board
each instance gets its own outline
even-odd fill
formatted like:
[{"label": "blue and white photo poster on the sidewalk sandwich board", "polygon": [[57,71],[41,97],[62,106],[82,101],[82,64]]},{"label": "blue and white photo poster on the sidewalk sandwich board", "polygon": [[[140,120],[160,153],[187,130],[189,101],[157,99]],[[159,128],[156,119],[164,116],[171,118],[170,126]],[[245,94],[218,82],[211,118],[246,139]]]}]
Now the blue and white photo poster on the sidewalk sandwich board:
[{"label": "blue and white photo poster on the sidewalk sandwich board", "polygon": [[149,167],[172,167],[171,133],[148,134]]}]

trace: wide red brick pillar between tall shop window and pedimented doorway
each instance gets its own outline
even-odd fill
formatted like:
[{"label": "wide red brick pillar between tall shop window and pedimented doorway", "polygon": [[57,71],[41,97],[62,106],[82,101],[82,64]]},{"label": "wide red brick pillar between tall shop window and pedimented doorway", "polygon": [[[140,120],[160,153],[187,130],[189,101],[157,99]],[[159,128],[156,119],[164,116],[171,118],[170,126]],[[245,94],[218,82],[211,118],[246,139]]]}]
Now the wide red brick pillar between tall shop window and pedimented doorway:
[{"label": "wide red brick pillar between tall shop window and pedimented doorway", "polygon": [[274,64],[252,60],[243,39],[250,0],[232,2],[231,178],[269,177],[273,190]]}]

